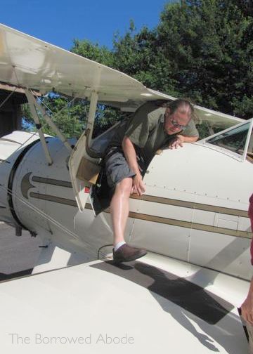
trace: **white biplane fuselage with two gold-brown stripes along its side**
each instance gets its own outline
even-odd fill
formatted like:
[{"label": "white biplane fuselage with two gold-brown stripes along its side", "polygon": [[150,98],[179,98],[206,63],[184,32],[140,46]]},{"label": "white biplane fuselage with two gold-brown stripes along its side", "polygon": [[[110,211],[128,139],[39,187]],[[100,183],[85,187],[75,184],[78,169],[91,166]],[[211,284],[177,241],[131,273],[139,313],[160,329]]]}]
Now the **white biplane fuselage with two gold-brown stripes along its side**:
[{"label": "white biplane fuselage with two gold-brown stripes along its side", "polygon": [[[252,122],[241,126],[252,136]],[[79,211],[68,168],[70,152],[58,138],[46,138],[53,159],[49,166],[38,136],[16,150],[31,136],[13,132],[0,139],[1,151],[10,152],[0,165],[1,220],[41,235],[44,245],[53,242],[96,259],[100,247],[112,244],[109,210],[94,217],[88,198]],[[145,174],[145,195],[131,197],[126,241],[249,279],[249,159],[206,140],[156,155]]]}]

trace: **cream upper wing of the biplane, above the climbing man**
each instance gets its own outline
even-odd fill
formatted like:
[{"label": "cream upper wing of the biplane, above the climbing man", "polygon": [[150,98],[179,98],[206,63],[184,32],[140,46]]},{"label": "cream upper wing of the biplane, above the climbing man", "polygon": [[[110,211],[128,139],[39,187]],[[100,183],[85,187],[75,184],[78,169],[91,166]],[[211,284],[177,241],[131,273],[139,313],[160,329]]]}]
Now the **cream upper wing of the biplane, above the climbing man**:
[{"label": "cream upper wing of the biplane, above the climbing man", "polygon": [[[41,93],[53,89],[67,96],[90,98],[135,110],[147,100],[176,98],[147,89],[141,82],[105,65],[40,41],[0,24],[0,81]],[[242,119],[195,106],[201,122],[226,129]]]}]

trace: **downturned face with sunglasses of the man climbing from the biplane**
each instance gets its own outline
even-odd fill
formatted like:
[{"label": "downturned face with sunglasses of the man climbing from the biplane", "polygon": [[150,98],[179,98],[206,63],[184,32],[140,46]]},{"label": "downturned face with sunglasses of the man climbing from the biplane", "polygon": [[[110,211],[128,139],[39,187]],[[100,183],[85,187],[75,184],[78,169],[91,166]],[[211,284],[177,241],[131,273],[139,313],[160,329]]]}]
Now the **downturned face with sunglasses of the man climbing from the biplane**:
[{"label": "downturned face with sunglasses of the man climbing from the biplane", "polygon": [[169,135],[179,133],[190,122],[189,112],[181,110],[180,107],[173,114],[170,114],[167,108],[164,117],[164,130]]}]

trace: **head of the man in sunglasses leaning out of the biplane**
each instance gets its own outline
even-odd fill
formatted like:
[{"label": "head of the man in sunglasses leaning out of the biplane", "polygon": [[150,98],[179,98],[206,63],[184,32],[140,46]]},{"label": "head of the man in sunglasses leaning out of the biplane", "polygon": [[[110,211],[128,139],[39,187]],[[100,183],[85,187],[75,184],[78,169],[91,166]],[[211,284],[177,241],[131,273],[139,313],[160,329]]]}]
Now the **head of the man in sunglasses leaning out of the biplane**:
[{"label": "head of the man in sunglasses leaning out of the biplane", "polygon": [[185,129],[194,113],[193,105],[188,100],[174,100],[164,114],[164,129],[172,135]]}]

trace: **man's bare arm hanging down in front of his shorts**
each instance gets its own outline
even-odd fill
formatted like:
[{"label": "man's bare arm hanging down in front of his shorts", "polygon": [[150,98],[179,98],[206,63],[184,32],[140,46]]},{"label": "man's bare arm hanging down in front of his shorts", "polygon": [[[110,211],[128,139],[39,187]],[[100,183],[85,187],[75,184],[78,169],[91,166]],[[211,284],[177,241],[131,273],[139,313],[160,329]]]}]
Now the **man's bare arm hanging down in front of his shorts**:
[{"label": "man's bare arm hanging down in front of his shorts", "polygon": [[133,143],[127,136],[125,136],[122,141],[122,149],[130,169],[134,171],[134,173],[136,173],[133,178],[132,192],[137,193],[137,195],[143,195],[143,193],[145,192],[145,185],[142,180],[141,172],[138,168],[136,150],[134,149]]}]

